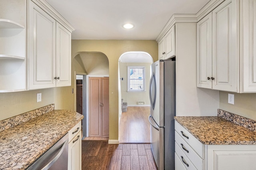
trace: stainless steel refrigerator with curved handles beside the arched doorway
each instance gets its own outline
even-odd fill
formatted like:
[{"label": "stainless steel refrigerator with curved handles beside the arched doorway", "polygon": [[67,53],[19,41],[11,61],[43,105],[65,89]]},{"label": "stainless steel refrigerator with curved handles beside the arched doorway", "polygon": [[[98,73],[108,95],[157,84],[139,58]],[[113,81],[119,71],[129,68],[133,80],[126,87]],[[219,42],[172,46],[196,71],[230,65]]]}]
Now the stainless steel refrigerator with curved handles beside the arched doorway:
[{"label": "stainless steel refrigerator with curved handles beside the arched doorway", "polygon": [[150,66],[150,145],[159,170],[174,170],[175,61]]}]

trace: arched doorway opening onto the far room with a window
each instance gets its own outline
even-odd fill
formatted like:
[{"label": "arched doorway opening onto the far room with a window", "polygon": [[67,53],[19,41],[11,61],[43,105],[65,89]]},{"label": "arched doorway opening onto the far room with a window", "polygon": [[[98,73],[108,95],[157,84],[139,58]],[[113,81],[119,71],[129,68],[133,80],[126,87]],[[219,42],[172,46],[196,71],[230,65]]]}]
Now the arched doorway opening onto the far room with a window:
[{"label": "arched doorway opening onto the far room with a window", "polygon": [[150,143],[150,101],[148,86],[152,57],[145,52],[131,51],[119,59],[122,114],[119,122],[119,143]]}]

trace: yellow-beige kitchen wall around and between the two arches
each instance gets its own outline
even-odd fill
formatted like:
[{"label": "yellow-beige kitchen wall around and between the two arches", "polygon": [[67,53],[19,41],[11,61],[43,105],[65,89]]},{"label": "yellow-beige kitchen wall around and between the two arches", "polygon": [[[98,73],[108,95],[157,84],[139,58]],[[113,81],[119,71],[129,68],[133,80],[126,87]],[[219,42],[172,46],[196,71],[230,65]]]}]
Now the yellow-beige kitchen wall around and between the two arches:
[{"label": "yellow-beige kitchen wall around and between the two arches", "polygon": [[[154,61],[158,60],[158,44],[155,40],[72,40],[72,59],[82,52],[100,52],[108,57],[110,141],[118,140],[118,113],[121,105],[121,98],[118,96],[118,60],[128,51],[144,51],[149,53]],[[72,68],[70,89],[74,88],[74,70],[75,68]],[[74,95],[69,93],[64,98],[70,102],[74,101]]]}]

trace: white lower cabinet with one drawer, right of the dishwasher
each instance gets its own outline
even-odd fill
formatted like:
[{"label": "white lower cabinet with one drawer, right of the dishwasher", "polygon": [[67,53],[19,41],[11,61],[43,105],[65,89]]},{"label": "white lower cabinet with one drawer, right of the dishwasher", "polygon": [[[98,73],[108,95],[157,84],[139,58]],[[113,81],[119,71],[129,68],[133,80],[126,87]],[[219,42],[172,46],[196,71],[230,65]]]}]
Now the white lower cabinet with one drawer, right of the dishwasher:
[{"label": "white lower cabinet with one drawer, right of the dishwasher", "polygon": [[82,169],[82,131],[81,122],[69,132],[68,138],[68,170]]}]

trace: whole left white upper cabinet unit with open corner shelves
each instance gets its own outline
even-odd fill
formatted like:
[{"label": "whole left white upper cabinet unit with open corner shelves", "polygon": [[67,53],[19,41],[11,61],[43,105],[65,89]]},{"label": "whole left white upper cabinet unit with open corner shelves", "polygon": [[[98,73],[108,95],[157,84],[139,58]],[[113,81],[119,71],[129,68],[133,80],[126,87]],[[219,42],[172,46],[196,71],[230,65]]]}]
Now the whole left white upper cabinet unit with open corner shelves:
[{"label": "whole left white upper cabinet unit with open corner shelves", "polygon": [[1,0],[0,92],[71,86],[72,31],[45,0]]}]

